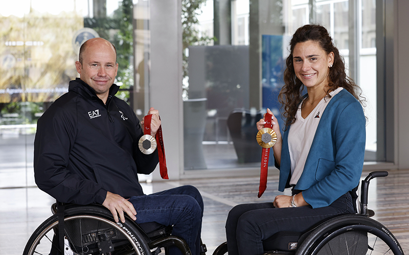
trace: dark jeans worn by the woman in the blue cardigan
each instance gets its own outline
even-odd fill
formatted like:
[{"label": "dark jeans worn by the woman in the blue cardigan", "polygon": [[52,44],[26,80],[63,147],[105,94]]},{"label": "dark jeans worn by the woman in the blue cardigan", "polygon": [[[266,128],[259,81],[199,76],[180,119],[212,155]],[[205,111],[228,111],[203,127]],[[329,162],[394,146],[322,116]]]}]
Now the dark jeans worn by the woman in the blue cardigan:
[{"label": "dark jeans worn by the woman in the blue cardigan", "polygon": [[263,242],[281,231],[307,232],[315,224],[335,215],[354,213],[349,193],[330,206],[275,208],[272,202],[247,203],[234,207],[226,221],[229,255],[260,255]]}]

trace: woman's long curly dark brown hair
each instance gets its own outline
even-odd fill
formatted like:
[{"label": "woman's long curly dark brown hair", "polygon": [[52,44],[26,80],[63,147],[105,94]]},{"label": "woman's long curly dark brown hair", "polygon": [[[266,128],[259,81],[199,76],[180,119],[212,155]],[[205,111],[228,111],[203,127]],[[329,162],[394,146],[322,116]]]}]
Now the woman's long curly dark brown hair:
[{"label": "woman's long curly dark brown hair", "polygon": [[[297,29],[296,33],[291,38],[290,41],[290,55],[286,60],[286,69],[284,71],[284,86],[279,94],[279,102],[284,108],[283,117],[285,118],[284,124],[287,129],[289,125],[296,121],[296,113],[298,106],[302,101],[301,92],[304,89],[304,85],[297,78],[294,72],[294,66],[292,63],[292,54],[294,47],[299,42],[314,41],[318,43],[321,48],[327,53],[334,53],[334,63],[329,70],[328,74],[328,90],[326,91],[327,96],[330,97],[329,93],[335,89],[342,87],[351,93],[361,104],[365,101],[365,98],[361,97],[361,90],[358,85],[352,81],[345,72],[344,58],[339,55],[338,49],[332,42],[331,36],[328,34],[327,29],[322,27],[322,25],[308,24]],[[360,98],[363,98],[361,100]]]}]

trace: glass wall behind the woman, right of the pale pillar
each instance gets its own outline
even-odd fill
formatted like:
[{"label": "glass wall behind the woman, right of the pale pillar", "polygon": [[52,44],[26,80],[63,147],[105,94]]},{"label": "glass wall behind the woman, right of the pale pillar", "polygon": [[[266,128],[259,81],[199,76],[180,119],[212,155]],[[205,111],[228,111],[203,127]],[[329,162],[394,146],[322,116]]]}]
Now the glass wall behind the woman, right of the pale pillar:
[{"label": "glass wall behind the woman, right of the pale pillar", "polygon": [[[225,6],[230,12],[220,17]],[[283,86],[288,41],[297,28],[308,23],[328,29],[345,58],[347,73],[362,89],[368,117],[365,160],[383,160],[376,158],[375,10],[374,0],[201,1],[194,28],[211,31],[213,12],[213,33],[205,33],[213,38],[191,41],[184,51],[185,118],[186,112],[199,112],[202,119],[198,122],[203,124],[200,132],[195,126],[194,133],[185,126],[185,148],[189,147],[185,149],[185,170],[259,167],[261,147],[255,139],[255,123],[266,108],[280,115],[277,97]],[[228,42],[223,38],[226,35],[217,33],[226,25],[231,27]],[[351,37],[351,28],[359,38]],[[187,103],[199,98],[200,104]],[[282,120],[279,123],[283,126]]]}]

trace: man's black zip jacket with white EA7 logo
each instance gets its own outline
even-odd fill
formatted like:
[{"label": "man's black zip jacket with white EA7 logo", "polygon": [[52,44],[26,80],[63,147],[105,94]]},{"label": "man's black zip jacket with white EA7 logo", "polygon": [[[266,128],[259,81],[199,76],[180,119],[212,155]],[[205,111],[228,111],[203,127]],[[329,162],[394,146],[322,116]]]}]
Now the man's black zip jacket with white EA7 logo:
[{"label": "man's black zip jacket with white EA7 logo", "polygon": [[37,186],[61,202],[102,204],[106,192],[123,197],[143,195],[137,173],[151,173],[157,150],[138,149],[143,130],[125,101],[114,96],[106,105],[80,79],[37,122],[34,173]]}]

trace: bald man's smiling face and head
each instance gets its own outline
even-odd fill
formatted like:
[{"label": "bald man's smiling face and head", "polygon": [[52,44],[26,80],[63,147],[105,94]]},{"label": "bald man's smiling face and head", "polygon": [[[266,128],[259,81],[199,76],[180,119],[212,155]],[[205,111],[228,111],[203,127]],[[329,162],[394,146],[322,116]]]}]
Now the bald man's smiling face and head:
[{"label": "bald man's smiling face and head", "polygon": [[110,44],[101,39],[94,38],[87,45],[82,63],[76,62],[80,79],[95,90],[95,93],[106,102],[109,88],[115,81],[118,72],[115,50]]}]

